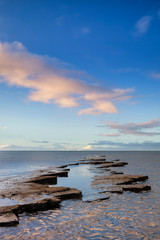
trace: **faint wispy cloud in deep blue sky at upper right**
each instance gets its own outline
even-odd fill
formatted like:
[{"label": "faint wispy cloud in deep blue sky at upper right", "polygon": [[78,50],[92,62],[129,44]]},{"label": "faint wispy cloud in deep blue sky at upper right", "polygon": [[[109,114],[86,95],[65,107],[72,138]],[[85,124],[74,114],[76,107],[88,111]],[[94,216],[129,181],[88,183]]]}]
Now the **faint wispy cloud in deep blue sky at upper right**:
[{"label": "faint wispy cloud in deep blue sky at upper right", "polygon": [[144,35],[149,29],[151,20],[152,20],[152,16],[144,16],[140,18],[134,26],[134,30],[135,30],[134,34],[136,36]]}]

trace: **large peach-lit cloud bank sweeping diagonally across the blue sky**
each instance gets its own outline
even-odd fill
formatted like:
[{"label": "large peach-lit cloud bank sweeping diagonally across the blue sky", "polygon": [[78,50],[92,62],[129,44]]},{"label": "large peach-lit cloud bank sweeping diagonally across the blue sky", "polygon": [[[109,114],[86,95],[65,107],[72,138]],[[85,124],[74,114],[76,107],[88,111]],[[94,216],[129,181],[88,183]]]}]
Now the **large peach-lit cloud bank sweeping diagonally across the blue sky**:
[{"label": "large peach-lit cloud bank sweeping diagonally across the blue sky", "polygon": [[62,108],[80,107],[83,102],[78,115],[99,115],[117,113],[115,102],[130,99],[134,91],[89,85],[73,77],[73,72],[76,73],[57,67],[56,63],[51,65],[45,57],[29,53],[22,43],[0,43],[0,82],[30,89],[30,101],[52,103]]}]

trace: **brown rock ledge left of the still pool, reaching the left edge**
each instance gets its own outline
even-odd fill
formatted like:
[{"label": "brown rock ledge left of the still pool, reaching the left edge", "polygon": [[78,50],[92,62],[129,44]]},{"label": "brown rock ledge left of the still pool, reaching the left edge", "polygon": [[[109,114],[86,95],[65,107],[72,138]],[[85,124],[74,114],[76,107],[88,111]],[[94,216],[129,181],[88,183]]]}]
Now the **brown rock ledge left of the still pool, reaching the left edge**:
[{"label": "brown rock ledge left of the still pool, reaching the left edge", "polygon": [[2,190],[1,199],[11,199],[18,204],[0,207],[0,226],[13,226],[19,223],[19,214],[23,212],[46,211],[60,207],[63,200],[81,198],[82,192],[69,187],[51,187],[57,183],[57,177],[67,177],[68,171],[48,172],[15,182],[12,187]]}]

